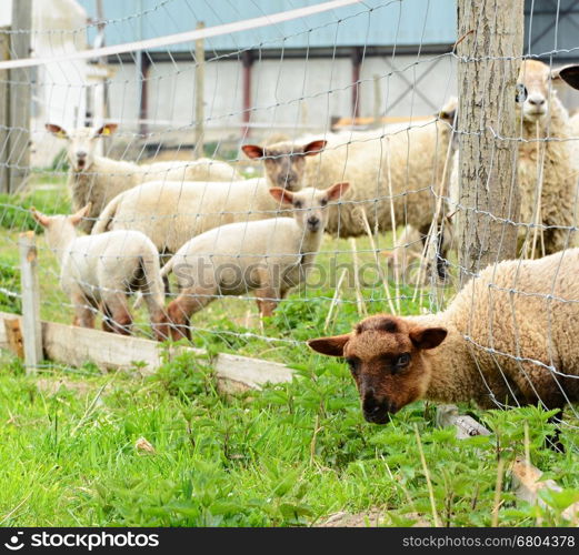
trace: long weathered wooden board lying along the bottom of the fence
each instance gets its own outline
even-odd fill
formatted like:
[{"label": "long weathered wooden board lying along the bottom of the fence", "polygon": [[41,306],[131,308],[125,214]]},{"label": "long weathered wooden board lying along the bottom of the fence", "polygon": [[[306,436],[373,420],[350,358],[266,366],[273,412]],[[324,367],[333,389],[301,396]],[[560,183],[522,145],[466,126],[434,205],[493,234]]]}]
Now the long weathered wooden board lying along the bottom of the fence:
[{"label": "long weathered wooden board lying along the bottom of the fence", "polygon": [[[0,347],[9,349],[6,322],[21,325],[22,316],[0,312]],[[181,345],[169,347],[157,341],[118,335],[56,322],[42,322],[42,344],[46,356],[60,364],[81,366],[92,362],[104,370],[138,370],[151,374],[162,363],[178,354],[190,353],[212,364],[220,386],[227,392],[259,390],[266,383],[290,382],[293,371],[276,362],[220,353],[209,359],[202,349]]]}]

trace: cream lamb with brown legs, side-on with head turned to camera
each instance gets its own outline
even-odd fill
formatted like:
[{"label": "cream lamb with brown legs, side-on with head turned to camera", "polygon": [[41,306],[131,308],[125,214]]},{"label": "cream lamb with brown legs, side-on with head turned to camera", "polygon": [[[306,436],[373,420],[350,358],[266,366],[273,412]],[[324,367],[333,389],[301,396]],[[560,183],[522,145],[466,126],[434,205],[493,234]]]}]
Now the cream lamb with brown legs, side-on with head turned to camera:
[{"label": "cream lamb with brown legs, side-on with head turned to camera", "polygon": [[326,206],[348,186],[297,193],[270,189],[278,203],[291,205],[293,218],[231,223],[183,244],[161,271],[174,272],[181,291],[168,307],[173,339],[190,339],[189,319],[218,295],[256,291],[260,314],[271,315],[279,300],[303,283],[323,236]]}]

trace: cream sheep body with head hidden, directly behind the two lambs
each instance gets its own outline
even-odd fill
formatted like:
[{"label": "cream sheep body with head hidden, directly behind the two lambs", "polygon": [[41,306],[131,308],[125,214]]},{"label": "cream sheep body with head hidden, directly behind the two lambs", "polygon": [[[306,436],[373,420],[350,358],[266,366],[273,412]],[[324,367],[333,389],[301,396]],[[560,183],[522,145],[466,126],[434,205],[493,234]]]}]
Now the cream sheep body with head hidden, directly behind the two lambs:
[{"label": "cream sheep body with head hidden, directly behind the two lambs", "polygon": [[92,233],[137,230],[149,236],[159,252],[174,253],[200,233],[227,223],[272,218],[278,209],[264,179],[152,181],[112,199]]}]

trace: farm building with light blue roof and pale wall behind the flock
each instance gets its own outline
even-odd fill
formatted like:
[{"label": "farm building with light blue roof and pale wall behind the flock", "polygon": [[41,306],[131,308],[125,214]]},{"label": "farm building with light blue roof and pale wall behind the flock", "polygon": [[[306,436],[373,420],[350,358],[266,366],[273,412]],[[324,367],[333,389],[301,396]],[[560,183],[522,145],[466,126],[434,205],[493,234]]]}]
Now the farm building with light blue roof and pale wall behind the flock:
[{"label": "farm building with light blue roof and pale wall behind the flock", "polygon": [[[96,16],[96,2],[80,3]],[[173,0],[158,6],[147,0],[104,1],[103,17],[110,21],[104,36],[107,44],[117,44],[183,32],[199,21],[213,27],[315,3]],[[237,137],[246,127],[258,135],[271,129],[320,130],[332,118],[352,114],[429,115],[456,94],[456,63],[449,53],[456,41],[455,4],[455,0],[371,0],[339,13],[208,39],[207,127],[220,135]],[[556,37],[557,6],[542,4],[531,17],[528,2],[530,52],[569,49],[558,53],[555,62],[578,59],[570,41],[573,29],[577,32],[579,6],[561,4]],[[368,11],[367,6],[373,10]],[[156,130],[193,121],[193,44],[121,54],[109,63],[114,68],[109,93],[111,118],[122,119],[123,125],[136,131],[139,123],[141,130]],[[143,79],[139,79],[141,74]]]}]

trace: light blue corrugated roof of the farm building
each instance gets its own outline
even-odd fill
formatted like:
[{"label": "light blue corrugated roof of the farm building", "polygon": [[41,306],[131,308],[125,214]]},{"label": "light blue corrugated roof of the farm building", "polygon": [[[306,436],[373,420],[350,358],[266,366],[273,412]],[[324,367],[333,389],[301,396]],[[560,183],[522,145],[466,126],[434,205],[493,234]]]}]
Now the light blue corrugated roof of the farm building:
[{"label": "light blue corrugated roof of the farm building", "polygon": [[[80,0],[96,17],[94,0]],[[103,0],[107,44],[118,44],[315,6],[316,0]],[[90,32],[92,39],[94,30]],[[208,39],[211,50],[448,44],[456,40],[455,0],[365,0],[308,18]],[[191,44],[170,47],[188,50]],[[162,48],[160,50],[167,50]]]}]

